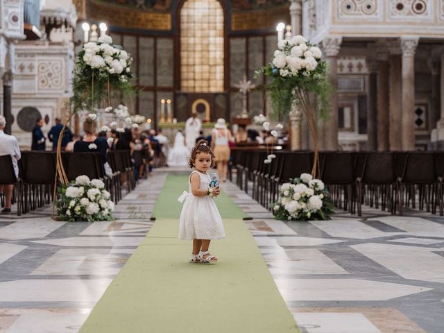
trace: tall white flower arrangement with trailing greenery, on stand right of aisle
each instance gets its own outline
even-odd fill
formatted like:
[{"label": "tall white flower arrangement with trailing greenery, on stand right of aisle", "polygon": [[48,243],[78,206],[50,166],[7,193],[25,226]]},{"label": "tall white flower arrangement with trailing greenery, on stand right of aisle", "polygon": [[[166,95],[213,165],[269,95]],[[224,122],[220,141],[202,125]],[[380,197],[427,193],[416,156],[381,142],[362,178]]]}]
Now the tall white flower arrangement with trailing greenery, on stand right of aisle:
[{"label": "tall white flower arrangement with trailing greenery, on stand right of aisle", "polygon": [[316,121],[328,117],[328,99],[332,92],[327,63],[321,56],[321,49],[298,35],[291,40],[281,40],[273,61],[256,72],[257,76],[264,74],[271,78],[267,88],[279,119],[289,114],[293,103],[305,114],[314,142],[313,177],[319,173]]}]

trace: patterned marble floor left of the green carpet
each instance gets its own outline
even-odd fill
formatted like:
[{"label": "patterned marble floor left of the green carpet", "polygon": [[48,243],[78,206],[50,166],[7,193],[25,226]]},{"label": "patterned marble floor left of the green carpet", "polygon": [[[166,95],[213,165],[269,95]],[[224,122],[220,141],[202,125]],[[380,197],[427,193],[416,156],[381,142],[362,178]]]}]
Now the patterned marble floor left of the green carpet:
[{"label": "patterned marble floor left of the green carpet", "polygon": [[165,178],[140,182],[112,222],[53,221],[50,206],[0,216],[0,332],[78,332],[153,225]]}]

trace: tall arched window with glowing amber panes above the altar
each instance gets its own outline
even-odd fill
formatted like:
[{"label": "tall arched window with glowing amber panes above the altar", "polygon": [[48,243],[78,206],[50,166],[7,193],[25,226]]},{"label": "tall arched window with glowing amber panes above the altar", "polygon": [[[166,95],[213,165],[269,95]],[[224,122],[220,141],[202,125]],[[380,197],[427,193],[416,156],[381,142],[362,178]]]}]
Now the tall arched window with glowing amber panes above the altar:
[{"label": "tall arched window with glowing amber panes above the altar", "polygon": [[223,9],[217,0],[188,0],[180,10],[180,86],[223,91]]}]

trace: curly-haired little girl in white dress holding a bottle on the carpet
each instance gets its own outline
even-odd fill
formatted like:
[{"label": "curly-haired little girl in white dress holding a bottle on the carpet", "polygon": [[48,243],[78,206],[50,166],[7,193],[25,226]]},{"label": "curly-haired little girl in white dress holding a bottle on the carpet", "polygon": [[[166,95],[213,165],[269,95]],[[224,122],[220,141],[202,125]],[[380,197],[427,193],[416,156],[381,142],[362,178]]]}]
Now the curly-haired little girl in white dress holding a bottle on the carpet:
[{"label": "curly-haired little girl in white dress holding a bottle on the carpet", "polygon": [[189,262],[217,262],[217,258],[208,252],[212,239],[225,237],[221,214],[217,210],[213,196],[219,196],[219,187],[211,188],[211,178],[207,170],[212,167],[214,153],[206,140],[196,143],[191,156],[189,167],[195,168],[189,176],[189,194],[178,199],[185,200],[180,212],[179,239],[193,239],[193,252]]}]

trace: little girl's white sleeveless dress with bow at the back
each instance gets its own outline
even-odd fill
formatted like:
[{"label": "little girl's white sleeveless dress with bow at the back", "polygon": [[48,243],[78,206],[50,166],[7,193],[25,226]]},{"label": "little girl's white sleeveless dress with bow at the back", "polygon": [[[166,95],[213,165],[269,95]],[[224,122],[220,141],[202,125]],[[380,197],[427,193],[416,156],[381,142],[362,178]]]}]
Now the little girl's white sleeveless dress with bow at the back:
[{"label": "little girl's white sleeveless dress with bow at the back", "polygon": [[[208,189],[211,178],[208,173],[198,173],[200,177],[200,189]],[[180,212],[179,239],[221,239],[225,237],[222,217],[217,210],[214,199],[210,196],[194,196],[189,183],[189,194],[184,191],[181,198],[185,197],[185,203]],[[180,198],[178,199],[180,200]]]}]

